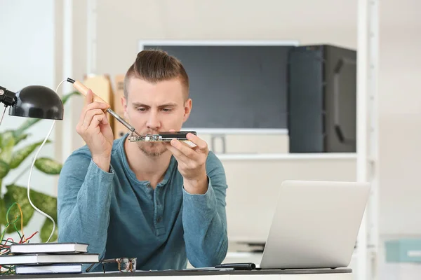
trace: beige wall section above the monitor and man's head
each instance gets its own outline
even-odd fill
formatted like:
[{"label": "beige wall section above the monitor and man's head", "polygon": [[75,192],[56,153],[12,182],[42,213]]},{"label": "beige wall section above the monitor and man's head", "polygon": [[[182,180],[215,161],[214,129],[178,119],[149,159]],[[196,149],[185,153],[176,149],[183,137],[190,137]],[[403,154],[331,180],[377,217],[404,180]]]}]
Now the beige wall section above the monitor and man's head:
[{"label": "beige wall section above the monitor and man's head", "polygon": [[296,39],[354,48],[356,1],[101,1],[99,73],[124,73],[141,39]]}]

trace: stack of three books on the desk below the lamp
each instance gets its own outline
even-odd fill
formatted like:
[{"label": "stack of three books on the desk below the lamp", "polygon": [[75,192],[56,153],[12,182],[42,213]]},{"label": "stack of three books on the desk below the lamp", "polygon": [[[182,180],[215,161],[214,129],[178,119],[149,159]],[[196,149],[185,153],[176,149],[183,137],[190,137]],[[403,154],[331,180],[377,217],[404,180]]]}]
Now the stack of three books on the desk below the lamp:
[{"label": "stack of three books on the desk below the lamp", "polygon": [[0,265],[15,265],[16,274],[81,273],[83,263],[99,262],[99,254],[81,243],[12,244],[10,250],[0,255]]}]

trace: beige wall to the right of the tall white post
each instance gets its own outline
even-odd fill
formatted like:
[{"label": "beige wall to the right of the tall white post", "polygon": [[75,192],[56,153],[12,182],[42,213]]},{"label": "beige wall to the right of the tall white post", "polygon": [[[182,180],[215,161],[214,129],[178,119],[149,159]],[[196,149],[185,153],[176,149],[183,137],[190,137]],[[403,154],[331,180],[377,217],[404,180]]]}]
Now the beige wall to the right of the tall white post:
[{"label": "beige wall to the right of the tall white post", "polygon": [[421,235],[421,3],[411,2],[382,8],[384,17],[406,19],[380,34],[380,230],[387,235]]}]

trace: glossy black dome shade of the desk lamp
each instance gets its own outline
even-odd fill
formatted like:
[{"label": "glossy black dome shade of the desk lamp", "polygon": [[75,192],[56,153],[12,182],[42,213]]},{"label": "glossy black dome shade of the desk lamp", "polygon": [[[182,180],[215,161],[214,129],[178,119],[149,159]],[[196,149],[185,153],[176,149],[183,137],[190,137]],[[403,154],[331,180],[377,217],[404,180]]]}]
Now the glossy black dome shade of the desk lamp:
[{"label": "glossy black dome shade of the desk lamp", "polygon": [[9,109],[10,116],[62,120],[63,102],[49,87],[29,85],[16,92],[16,102]]}]

